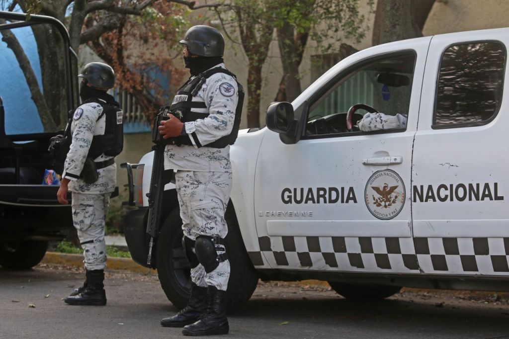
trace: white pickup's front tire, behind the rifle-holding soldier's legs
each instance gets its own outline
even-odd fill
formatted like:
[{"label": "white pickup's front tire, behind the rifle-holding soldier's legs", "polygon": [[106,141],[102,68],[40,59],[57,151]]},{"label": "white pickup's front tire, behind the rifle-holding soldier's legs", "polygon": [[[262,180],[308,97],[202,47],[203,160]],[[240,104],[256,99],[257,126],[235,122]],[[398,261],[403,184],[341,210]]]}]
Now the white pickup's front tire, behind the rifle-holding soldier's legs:
[{"label": "white pickup's front tire, behind the rifle-holding soldier's legs", "polygon": [[[258,273],[247,256],[232,204],[229,204],[225,218],[228,223],[225,247],[231,267],[227,309],[231,312],[249,300],[258,284]],[[187,305],[191,286],[190,266],[182,246],[182,237],[182,219],[179,208],[175,208],[162,225],[156,260],[161,287],[168,300],[179,309]]]}]

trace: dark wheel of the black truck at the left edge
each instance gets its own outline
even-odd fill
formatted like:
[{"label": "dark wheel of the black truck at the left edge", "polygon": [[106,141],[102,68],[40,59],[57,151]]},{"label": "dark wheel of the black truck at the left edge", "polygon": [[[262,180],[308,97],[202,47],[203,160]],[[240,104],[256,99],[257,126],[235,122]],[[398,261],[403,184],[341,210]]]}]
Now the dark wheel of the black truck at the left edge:
[{"label": "dark wheel of the black truck at the left edge", "polygon": [[8,270],[26,270],[39,264],[48,249],[47,241],[23,240],[0,244],[0,266]]}]

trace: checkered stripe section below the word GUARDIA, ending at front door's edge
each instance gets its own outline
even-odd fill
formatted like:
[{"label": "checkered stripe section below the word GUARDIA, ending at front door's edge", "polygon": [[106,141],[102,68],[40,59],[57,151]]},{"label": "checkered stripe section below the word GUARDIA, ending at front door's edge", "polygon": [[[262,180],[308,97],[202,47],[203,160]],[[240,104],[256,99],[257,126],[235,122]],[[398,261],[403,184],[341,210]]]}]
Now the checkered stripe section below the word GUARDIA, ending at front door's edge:
[{"label": "checkered stripe section below the word GUARDIA, ending at front door's edge", "polygon": [[260,237],[260,252],[249,252],[253,265],[332,271],[418,273],[411,238]]}]

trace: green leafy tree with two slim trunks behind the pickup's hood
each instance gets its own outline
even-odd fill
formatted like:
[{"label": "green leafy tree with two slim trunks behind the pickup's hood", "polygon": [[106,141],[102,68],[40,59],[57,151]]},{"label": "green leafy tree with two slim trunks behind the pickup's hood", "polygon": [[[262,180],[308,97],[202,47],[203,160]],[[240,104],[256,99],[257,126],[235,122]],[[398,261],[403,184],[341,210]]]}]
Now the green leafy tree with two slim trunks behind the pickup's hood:
[{"label": "green leafy tree with two slim trunks behind the pickup's hood", "polygon": [[330,52],[335,44],[326,42],[338,35],[357,40],[364,35],[361,27],[364,17],[358,13],[359,0],[223,0],[219,4],[216,12],[223,29],[230,38],[228,31],[238,32],[239,44],[249,60],[248,127],[260,126],[262,66],[274,30],[283,68],[276,101],[292,101],[300,94],[298,68],[309,39],[322,52]]}]

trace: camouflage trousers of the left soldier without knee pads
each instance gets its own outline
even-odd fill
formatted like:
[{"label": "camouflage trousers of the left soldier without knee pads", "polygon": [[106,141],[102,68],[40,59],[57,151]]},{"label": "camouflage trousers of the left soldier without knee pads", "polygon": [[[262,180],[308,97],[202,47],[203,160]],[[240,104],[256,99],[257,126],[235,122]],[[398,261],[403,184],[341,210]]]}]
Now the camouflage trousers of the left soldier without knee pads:
[{"label": "camouflage trousers of the left soldier without knee pads", "polygon": [[72,220],[83,248],[85,268],[89,271],[103,270],[106,266],[104,220],[110,194],[72,192]]}]

